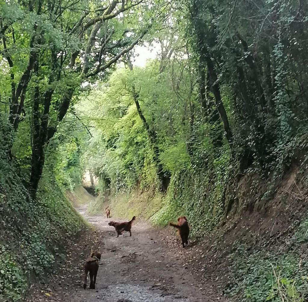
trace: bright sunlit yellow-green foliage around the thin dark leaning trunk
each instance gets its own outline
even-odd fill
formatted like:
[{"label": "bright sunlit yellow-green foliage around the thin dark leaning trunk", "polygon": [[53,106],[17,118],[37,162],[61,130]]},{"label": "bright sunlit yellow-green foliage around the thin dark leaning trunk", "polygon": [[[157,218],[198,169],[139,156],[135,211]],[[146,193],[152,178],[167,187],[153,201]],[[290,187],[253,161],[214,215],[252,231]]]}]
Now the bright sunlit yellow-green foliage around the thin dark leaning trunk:
[{"label": "bright sunlit yellow-green foliage around the thin dark leaning trunk", "polygon": [[152,120],[150,126],[159,136],[163,169],[173,173],[190,165],[182,129],[187,129],[187,121],[183,123],[178,114],[186,109],[172,94],[171,75],[157,74],[158,67],[158,62],[152,61],[144,69],[122,68],[111,76],[108,85],[90,96],[91,107],[89,97],[77,107],[96,127],[92,149],[84,156],[89,169],[101,178],[107,176],[115,190],[132,189],[137,183],[147,188],[157,182],[153,149],[136,110],[133,86],[145,118]]}]

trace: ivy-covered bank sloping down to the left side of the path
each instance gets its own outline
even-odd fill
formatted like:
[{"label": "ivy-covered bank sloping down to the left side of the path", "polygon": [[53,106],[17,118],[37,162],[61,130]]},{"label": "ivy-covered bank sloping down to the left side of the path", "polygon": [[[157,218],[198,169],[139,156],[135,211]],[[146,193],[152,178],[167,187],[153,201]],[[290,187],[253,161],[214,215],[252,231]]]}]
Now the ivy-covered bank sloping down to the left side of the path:
[{"label": "ivy-covered bank sloping down to the left side of the path", "polygon": [[[0,136],[0,145],[3,141]],[[51,158],[34,201],[5,151],[0,149],[0,301],[16,301],[30,280],[52,270],[63,245],[84,228],[84,222],[50,172]]]}]

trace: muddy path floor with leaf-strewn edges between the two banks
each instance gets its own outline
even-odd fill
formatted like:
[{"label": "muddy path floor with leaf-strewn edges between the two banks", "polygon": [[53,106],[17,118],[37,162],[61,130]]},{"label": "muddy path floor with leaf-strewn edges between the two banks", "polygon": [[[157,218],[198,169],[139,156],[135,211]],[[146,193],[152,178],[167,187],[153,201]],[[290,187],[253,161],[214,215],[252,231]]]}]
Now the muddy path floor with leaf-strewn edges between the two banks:
[{"label": "muddy path floor with leaf-strewn edges between the two banks", "polygon": [[[116,238],[111,220],[120,218],[87,216],[96,229],[85,232],[67,248],[67,257],[45,281],[31,285],[26,301],[108,302],[198,302],[225,301],[211,280],[200,280],[202,265],[191,265],[198,248],[181,247],[178,238],[136,219],[132,236]],[[91,234],[90,234],[91,233]],[[82,266],[92,249],[102,252],[95,290],[82,288]],[[89,279],[89,278],[88,278]],[[88,280],[89,285],[89,280]]]}]

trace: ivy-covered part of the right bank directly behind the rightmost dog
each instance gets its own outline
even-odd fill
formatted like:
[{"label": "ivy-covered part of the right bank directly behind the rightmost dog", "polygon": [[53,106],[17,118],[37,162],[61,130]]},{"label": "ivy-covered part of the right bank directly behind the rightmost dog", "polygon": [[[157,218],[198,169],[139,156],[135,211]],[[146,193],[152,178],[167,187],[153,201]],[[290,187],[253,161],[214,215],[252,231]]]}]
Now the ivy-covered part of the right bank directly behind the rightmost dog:
[{"label": "ivy-covered part of the right bank directly behind the rightmost dog", "polygon": [[224,185],[229,177],[229,152],[213,160],[207,173],[203,169],[180,170],[172,182],[162,208],[151,218],[154,224],[166,225],[170,219],[185,215],[191,235],[203,237],[217,226],[224,213]]}]

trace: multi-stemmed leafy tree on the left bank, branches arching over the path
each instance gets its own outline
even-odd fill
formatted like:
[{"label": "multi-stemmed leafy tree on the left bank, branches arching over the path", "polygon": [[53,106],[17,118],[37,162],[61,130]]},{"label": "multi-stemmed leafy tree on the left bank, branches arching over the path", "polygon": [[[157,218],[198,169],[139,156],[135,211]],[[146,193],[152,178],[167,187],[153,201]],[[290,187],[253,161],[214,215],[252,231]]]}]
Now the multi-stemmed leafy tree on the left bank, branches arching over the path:
[{"label": "multi-stemmed leafy tree on the left bank, branches arching over the path", "polygon": [[[151,16],[139,20],[146,10],[152,11],[145,0],[3,4],[2,11],[7,14],[1,19],[1,54],[10,73],[10,95],[7,91],[5,95],[9,95],[9,119],[15,130],[25,115],[32,116],[29,186],[33,197],[42,174],[45,146],[57,125],[78,92],[103,78],[142,40],[152,26]],[[30,32],[29,38],[16,33],[20,27],[24,33]]]}]

